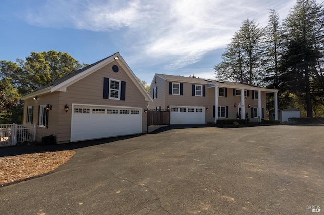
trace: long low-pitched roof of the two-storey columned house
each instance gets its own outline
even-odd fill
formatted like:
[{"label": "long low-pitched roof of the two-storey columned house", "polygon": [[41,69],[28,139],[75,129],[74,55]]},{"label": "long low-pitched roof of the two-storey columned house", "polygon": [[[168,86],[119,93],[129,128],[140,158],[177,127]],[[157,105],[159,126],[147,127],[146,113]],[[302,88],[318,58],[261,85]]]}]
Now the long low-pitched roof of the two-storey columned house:
[{"label": "long low-pitched roof of the two-storey columned house", "polygon": [[276,89],[268,89],[263,87],[256,87],[248,84],[230,82],[230,81],[219,81],[212,79],[204,79],[204,78],[193,78],[193,77],[185,77],[180,75],[166,75],[166,74],[155,74],[160,78],[163,78],[166,81],[177,81],[177,82],[186,82],[192,84],[206,84],[208,87],[227,87],[227,88],[237,88],[237,89],[250,89],[250,90],[261,90],[266,92],[278,92]]}]

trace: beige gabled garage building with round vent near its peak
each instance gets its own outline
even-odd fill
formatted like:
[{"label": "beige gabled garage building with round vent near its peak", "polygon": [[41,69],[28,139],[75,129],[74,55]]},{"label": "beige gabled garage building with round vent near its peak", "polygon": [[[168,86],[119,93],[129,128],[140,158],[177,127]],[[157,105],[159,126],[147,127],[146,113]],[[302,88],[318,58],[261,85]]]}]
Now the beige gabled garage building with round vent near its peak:
[{"label": "beige gabled garage building with round vent near its peak", "polygon": [[72,72],[22,98],[24,124],[36,140],[57,143],[146,133],[152,101],[119,53]]}]

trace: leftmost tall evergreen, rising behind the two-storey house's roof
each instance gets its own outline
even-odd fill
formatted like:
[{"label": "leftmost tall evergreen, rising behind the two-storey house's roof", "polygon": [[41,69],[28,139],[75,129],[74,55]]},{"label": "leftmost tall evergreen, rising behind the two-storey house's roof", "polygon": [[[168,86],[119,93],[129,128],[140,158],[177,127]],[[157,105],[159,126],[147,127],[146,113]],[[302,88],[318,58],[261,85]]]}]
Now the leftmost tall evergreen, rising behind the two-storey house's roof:
[{"label": "leftmost tall evergreen, rising behind the two-storey house's roof", "polygon": [[216,77],[222,80],[241,82],[248,77],[249,84],[261,84],[261,44],[263,28],[254,20],[244,20],[242,27],[227,45],[223,61],[214,65]]}]

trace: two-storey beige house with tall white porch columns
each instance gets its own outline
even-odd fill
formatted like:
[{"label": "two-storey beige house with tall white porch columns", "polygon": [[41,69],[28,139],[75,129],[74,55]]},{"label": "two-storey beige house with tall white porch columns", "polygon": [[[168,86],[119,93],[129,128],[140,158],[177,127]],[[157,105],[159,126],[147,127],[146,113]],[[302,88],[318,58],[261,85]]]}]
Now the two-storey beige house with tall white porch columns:
[{"label": "two-storey beige house with tall white porch columns", "polygon": [[[150,85],[150,109],[170,109],[171,124],[206,124],[218,119],[266,118],[266,94],[278,90],[245,83],[155,74]],[[215,108],[217,107],[217,108]],[[275,119],[278,119],[275,110]]]}]

